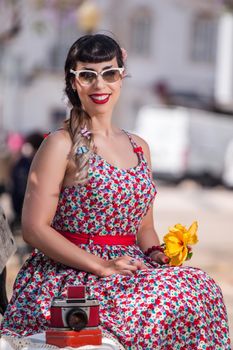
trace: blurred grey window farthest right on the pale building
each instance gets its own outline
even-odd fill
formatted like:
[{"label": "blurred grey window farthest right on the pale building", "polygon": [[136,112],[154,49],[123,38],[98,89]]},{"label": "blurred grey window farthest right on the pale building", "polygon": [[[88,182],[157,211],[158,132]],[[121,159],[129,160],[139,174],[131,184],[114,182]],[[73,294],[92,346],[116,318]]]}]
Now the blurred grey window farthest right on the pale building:
[{"label": "blurred grey window farthest right on the pale building", "polygon": [[216,56],[217,20],[209,14],[199,14],[191,37],[191,59],[194,62],[214,63]]}]

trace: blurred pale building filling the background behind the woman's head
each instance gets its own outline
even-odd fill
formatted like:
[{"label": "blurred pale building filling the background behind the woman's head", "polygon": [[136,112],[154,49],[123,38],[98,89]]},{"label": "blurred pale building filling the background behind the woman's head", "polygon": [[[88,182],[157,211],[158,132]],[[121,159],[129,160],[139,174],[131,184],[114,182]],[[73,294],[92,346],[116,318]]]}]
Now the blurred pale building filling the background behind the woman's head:
[{"label": "blurred pale building filling the background behind the woman's head", "polygon": [[0,125],[56,128],[66,115],[67,50],[97,31],[128,51],[121,126],[133,129],[140,107],[158,102],[231,112],[231,17],[217,0],[1,0]]}]

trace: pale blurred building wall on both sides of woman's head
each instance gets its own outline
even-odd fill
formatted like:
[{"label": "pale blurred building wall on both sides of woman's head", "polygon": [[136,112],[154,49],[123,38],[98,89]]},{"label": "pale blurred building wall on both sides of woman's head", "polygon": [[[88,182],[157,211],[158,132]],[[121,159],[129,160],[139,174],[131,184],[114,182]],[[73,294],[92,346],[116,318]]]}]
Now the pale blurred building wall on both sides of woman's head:
[{"label": "pale blurred building wall on both sides of woman's head", "polygon": [[[190,60],[189,53],[193,17],[203,8],[217,12],[215,0],[206,0],[204,3],[200,0],[94,2],[102,12],[98,30],[106,34],[108,31],[113,32],[116,39],[128,50],[127,66],[132,78],[124,82],[115,113],[118,124],[133,128],[135,114],[140,105],[156,102],[153,85],[160,80],[167,81],[175,90],[196,91],[207,95],[212,93],[215,65],[194,63]],[[138,6],[146,6],[153,18],[152,50],[147,57],[136,56],[130,52],[130,19]],[[7,79],[7,117],[4,118],[4,122],[8,129],[30,130],[39,126],[47,128],[51,127],[48,120],[51,109],[63,106],[63,76],[44,71],[48,65],[50,50],[57,40],[56,20],[48,12],[34,13],[33,8],[29,6],[25,6],[23,11],[25,27],[8,47],[6,65],[9,70],[12,70],[12,67],[17,70],[18,62],[21,65],[21,73],[26,75],[32,74],[36,68],[40,68],[41,72],[35,75],[31,84],[21,87],[17,85],[19,80],[14,81],[14,77],[13,80],[12,77]],[[34,25],[38,22],[44,25],[42,32],[35,31]]]}]

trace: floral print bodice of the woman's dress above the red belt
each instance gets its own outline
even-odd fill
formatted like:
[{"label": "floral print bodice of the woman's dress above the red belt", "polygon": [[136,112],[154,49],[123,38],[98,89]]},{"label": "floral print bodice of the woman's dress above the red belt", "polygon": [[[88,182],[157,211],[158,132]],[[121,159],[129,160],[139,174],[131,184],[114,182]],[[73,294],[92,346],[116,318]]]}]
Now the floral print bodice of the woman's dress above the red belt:
[{"label": "floral print bodice of the woman's dress above the red belt", "polygon": [[120,169],[93,153],[88,181],[62,188],[52,226],[90,235],[136,235],[156,194],[141,147],[130,134],[138,164]]}]

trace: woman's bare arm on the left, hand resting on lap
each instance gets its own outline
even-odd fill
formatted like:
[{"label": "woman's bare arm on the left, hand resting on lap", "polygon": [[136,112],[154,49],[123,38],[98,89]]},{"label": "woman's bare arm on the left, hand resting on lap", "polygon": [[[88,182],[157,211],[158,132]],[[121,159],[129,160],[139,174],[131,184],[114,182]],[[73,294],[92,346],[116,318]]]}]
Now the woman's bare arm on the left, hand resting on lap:
[{"label": "woman's bare arm on the left, hand resting on lap", "polygon": [[132,275],[138,268],[124,256],[106,261],[71,243],[51,227],[66,173],[71,140],[64,130],[48,136],[34,157],[22,212],[23,238],[53,260],[105,277],[113,273]]}]

